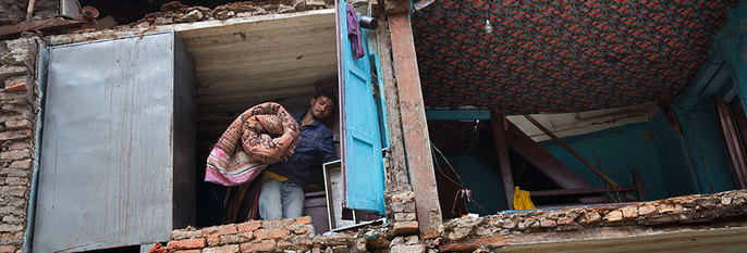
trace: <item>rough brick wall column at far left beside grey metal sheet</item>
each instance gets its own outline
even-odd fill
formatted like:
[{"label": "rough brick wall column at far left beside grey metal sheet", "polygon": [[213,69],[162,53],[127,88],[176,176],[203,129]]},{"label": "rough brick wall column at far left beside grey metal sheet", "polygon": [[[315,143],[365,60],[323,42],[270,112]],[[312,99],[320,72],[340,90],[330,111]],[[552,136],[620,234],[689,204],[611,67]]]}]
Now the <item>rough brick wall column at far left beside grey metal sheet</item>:
[{"label": "rough brick wall column at far left beside grey metal sheet", "polygon": [[0,253],[21,252],[27,219],[36,112],[33,39],[0,41]]}]

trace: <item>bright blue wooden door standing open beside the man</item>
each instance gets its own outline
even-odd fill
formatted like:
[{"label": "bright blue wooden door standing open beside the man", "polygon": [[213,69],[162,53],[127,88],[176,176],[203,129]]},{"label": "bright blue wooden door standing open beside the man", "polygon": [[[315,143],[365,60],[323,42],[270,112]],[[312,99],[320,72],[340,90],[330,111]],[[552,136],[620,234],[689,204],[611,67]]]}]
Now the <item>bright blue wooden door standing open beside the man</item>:
[{"label": "bright blue wooden door standing open beside the man", "polygon": [[[378,101],[371,89],[371,63],[367,55],[353,55],[344,0],[338,2],[336,10],[345,206],[384,214],[381,131]],[[360,39],[368,51],[365,31],[362,30]]]}]

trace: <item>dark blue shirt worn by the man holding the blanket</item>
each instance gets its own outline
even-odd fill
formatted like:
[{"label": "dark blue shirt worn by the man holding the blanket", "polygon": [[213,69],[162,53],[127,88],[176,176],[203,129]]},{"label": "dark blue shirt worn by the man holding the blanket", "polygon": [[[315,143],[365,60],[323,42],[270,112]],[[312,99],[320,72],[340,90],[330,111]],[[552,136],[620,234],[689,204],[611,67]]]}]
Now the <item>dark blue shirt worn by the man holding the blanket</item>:
[{"label": "dark blue shirt worn by the man holding the blanket", "polygon": [[[298,126],[306,112],[293,115]],[[321,170],[321,164],[338,160],[332,146],[332,131],[320,122],[301,127],[301,141],[293,155],[285,162],[271,164],[268,170],[286,177],[305,187],[313,170]]]}]

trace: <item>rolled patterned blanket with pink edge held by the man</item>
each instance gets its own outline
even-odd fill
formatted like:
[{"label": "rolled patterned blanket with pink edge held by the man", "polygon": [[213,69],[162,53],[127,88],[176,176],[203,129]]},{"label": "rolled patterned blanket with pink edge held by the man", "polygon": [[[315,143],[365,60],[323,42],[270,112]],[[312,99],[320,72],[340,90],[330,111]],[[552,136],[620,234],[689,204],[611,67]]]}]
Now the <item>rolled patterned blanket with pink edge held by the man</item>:
[{"label": "rolled patterned blanket with pink edge held by the man", "polygon": [[298,144],[298,124],[278,103],[261,103],[231,123],[208,156],[205,181],[237,186],[269,164],[286,160]]}]

